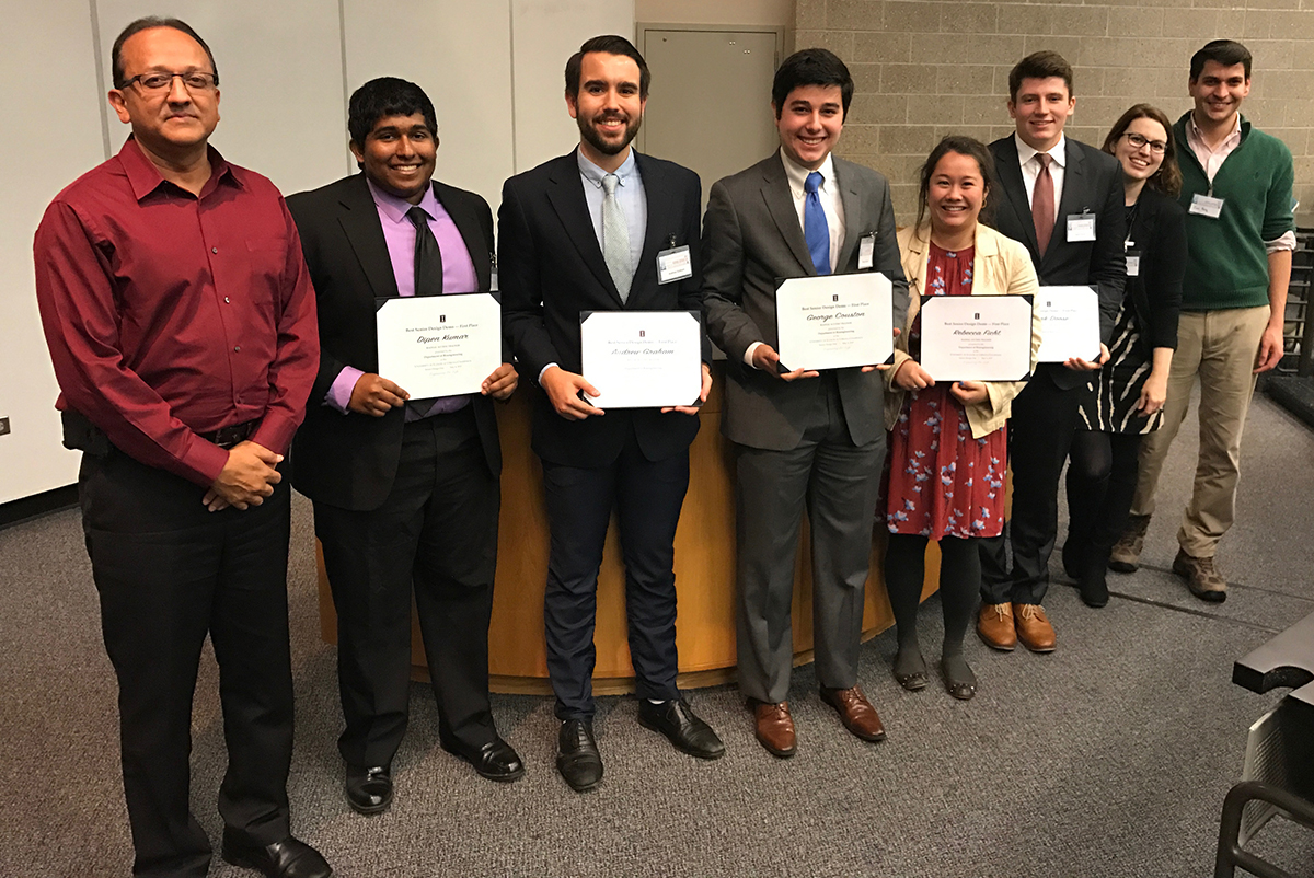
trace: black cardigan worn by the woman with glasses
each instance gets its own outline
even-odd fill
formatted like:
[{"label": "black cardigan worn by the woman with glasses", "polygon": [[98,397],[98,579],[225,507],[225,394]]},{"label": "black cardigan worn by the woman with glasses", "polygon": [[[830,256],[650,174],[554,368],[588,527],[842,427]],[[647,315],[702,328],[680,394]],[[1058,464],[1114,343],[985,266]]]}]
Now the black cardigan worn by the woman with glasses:
[{"label": "black cardigan worn by the woman with glasses", "polygon": [[1127,301],[1141,323],[1141,347],[1177,347],[1181,279],[1187,273],[1187,212],[1175,198],[1142,189],[1137,200],[1127,252],[1141,255],[1135,277],[1127,277]]}]

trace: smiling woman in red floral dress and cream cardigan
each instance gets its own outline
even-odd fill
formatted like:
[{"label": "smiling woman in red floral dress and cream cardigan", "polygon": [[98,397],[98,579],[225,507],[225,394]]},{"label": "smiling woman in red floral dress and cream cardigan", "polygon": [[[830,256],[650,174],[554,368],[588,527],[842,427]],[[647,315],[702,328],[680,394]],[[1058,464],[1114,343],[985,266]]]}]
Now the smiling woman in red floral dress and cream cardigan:
[{"label": "smiling woman in red floral dress and cream cardigan", "polygon": [[[976,694],[963,658],[963,635],[976,609],[980,556],[976,538],[1004,526],[1004,422],[1024,381],[936,381],[920,364],[922,296],[1034,294],[1026,247],[978,222],[995,176],[989,151],[970,137],[946,137],[921,170],[917,222],[899,233],[899,254],[912,304],[895,342],[886,381],[890,431],[886,589],[899,636],[895,678],[926,686],[917,643],[917,606],[926,542],[940,543],[940,599],[945,616],[941,674],[954,698]],[[1031,327],[1031,365],[1039,350]]]}]

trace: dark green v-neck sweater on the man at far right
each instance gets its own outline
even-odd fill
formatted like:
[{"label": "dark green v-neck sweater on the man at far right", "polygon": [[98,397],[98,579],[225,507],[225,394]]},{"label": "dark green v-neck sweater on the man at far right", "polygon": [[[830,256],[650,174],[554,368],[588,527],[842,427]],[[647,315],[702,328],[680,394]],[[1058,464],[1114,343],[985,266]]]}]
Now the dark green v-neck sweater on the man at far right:
[{"label": "dark green v-neck sweater on the man at far right", "polygon": [[[1210,188],[1209,176],[1187,142],[1187,113],[1172,126],[1181,163],[1181,206],[1187,213],[1187,276],[1181,308],[1212,312],[1268,304],[1265,241],[1293,230],[1292,152],[1276,137],[1240,120],[1240,145],[1223,159]],[[1194,195],[1223,200],[1217,220],[1189,213]]]}]

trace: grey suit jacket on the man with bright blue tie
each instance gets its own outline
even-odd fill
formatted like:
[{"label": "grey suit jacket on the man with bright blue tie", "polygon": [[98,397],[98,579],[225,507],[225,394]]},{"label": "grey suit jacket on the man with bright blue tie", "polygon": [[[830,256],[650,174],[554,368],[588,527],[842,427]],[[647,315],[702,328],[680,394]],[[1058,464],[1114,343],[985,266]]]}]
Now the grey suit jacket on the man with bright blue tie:
[{"label": "grey suit jacket on the man with bright blue tie", "polygon": [[[836,273],[858,271],[858,241],[876,234],[872,269],[894,281],[894,325],[908,313],[908,281],[895,241],[890,183],[871,168],[834,159],[845,235]],[[779,154],[712,185],[703,218],[703,317],[707,335],[725,351],[725,417],[732,442],[769,451],[796,448],[816,402],[817,380],[779,381],[744,364],[753,342],[778,346],[778,280],[816,275]],[[788,365],[788,363],[786,364]],[[855,446],[884,438],[884,381],[879,372],[836,371]]]}]

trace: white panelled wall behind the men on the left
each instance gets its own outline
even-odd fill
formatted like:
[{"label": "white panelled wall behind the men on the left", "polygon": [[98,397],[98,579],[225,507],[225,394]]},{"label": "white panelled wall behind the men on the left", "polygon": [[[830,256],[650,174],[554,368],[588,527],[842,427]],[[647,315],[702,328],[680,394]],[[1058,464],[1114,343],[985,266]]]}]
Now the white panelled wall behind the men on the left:
[{"label": "white panelled wall behind the men on the left", "polygon": [[[12,85],[0,89],[12,145],[11,159],[0,163],[0,417],[11,419],[12,434],[0,436],[0,503],[76,481],[78,455],[59,444],[58,388],[37,315],[32,235],[50,200],[127,137],[127,126],[102,108],[110,46],[134,17],[173,14],[205,37],[221,79],[213,143],[284,192],[355,171],[346,149],[347,96],[373,76],[393,75],[419,83],[434,99],[439,176],[481,193],[494,210],[502,180],[578,141],[562,99],[566,58],[594,34],[635,30],[633,0],[8,5],[0,53],[0,81]],[[37,92],[16,85],[34,70],[55,81]]]}]

